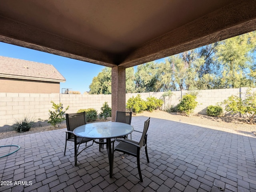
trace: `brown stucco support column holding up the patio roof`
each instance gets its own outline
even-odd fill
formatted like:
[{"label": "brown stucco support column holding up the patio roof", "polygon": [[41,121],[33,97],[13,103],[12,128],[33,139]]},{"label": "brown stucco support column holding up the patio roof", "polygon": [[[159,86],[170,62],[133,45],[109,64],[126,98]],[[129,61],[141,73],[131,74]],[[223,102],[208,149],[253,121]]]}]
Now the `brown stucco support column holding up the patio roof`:
[{"label": "brown stucco support column holding up the patio roof", "polygon": [[116,111],[125,111],[125,68],[112,67],[112,121],[116,119]]}]

